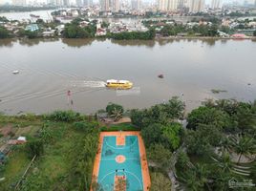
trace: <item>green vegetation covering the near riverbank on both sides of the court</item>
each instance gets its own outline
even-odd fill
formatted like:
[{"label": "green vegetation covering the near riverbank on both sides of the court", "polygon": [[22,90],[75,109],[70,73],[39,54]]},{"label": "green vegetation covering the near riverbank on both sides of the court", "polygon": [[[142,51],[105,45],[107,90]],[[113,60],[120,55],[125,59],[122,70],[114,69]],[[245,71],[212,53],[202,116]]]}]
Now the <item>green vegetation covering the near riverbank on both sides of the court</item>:
[{"label": "green vegetation covering the near riverbank on both sides of the court", "polygon": [[231,179],[256,183],[256,102],[207,100],[188,115],[184,110],[179,97],[126,112],[110,103],[108,117],[118,111],[131,117],[132,123],[107,126],[96,116],[72,111],[0,115],[1,130],[10,129],[2,138],[28,139],[25,145],[12,146],[3,160],[1,190],[13,189],[35,155],[19,190],[89,190],[99,132],[119,130],[141,131],[152,191],[170,190],[174,174],[177,186],[185,190],[228,190]]}]

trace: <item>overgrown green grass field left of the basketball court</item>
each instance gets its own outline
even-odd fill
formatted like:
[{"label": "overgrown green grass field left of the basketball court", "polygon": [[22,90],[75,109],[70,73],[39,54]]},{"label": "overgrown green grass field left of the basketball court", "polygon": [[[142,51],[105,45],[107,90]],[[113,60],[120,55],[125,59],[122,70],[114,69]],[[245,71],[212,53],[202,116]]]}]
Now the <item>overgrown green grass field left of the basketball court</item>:
[{"label": "overgrown green grass field left of the basketball court", "polygon": [[[44,154],[35,159],[20,190],[65,190],[69,187],[70,181],[75,181],[71,174],[74,172],[76,159],[83,158],[79,155],[83,155],[80,151],[84,147],[84,138],[87,134],[76,131],[73,123],[38,119],[30,122],[30,119],[0,117],[0,124],[0,127],[6,124],[11,125],[17,130],[16,133],[25,135],[27,138],[37,136],[44,124],[51,135],[48,142],[44,144]],[[14,149],[8,157],[5,170],[0,175],[0,178],[5,177],[5,180],[0,182],[1,191],[12,190],[31,161],[25,146],[12,148]]]}]

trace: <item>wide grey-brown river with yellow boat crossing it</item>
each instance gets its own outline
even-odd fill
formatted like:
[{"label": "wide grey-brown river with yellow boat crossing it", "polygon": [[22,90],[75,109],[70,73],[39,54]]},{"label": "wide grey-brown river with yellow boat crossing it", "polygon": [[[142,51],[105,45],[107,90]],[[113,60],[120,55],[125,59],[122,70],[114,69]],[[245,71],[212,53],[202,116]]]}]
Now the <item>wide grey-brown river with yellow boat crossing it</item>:
[{"label": "wide grey-brown river with yellow boat crossing it", "polygon": [[[172,96],[181,96],[188,111],[205,98],[252,101],[254,53],[251,40],[0,40],[0,112],[90,114],[108,102],[144,108]],[[131,80],[134,89],[107,90],[104,81],[112,78]]]}]

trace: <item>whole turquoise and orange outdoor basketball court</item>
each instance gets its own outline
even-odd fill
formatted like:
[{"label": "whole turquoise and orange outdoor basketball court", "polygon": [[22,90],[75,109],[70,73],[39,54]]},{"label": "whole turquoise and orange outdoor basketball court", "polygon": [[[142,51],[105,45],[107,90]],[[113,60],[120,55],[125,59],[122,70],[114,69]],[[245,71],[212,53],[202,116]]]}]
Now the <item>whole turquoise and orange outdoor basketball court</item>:
[{"label": "whole turquoise and orange outdoor basketball court", "polygon": [[104,191],[146,191],[150,177],[139,132],[102,132],[93,176]]}]

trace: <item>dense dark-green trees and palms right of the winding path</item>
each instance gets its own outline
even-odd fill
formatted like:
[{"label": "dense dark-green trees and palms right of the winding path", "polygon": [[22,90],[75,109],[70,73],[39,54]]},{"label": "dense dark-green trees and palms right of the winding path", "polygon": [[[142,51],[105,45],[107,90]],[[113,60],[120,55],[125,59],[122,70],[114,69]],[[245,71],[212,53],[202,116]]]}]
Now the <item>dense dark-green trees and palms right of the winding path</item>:
[{"label": "dense dark-green trees and palms right of the winding path", "polygon": [[189,159],[181,154],[176,165],[187,190],[228,190],[229,180],[244,181],[253,174],[255,102],[208,100],[187,120],[184,145]]}]

